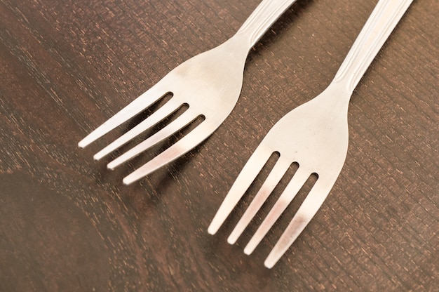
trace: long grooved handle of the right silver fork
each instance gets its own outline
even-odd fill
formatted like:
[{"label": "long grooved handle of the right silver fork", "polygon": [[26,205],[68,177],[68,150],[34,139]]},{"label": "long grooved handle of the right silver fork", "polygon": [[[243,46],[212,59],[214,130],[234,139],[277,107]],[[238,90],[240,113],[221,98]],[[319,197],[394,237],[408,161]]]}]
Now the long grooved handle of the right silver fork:
[{"label": "long grooved handle of the right silver fork", "polygon": [[346,82],[349,92],[356,88],[367,67],[413,0],[379,0],[346,55],[334,81]]}]

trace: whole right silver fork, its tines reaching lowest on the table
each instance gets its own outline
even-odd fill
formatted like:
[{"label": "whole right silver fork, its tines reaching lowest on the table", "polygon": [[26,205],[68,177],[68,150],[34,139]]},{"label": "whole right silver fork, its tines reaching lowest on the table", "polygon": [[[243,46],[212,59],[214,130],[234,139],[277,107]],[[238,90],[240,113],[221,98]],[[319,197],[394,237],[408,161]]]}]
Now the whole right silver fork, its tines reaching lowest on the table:
[{"label": "whole right silver fork, its tines reaching lowest on the table", "polygon": [[271,128],[236,178],[208,227],[215,234],[248,190],[273,152],[279,157],[227,241],[234,244],[259,211],[292,163],[297,171],[281,197],[259,225],[247,246],[252,253],[278,220],[311,174],[316,183],[266,258],[273,267],[316,214],[342,171],[348,149],[349,99],[367,67],[377,55],[412,0],[379,0],[330,85],[316,98],[300,105]]}]

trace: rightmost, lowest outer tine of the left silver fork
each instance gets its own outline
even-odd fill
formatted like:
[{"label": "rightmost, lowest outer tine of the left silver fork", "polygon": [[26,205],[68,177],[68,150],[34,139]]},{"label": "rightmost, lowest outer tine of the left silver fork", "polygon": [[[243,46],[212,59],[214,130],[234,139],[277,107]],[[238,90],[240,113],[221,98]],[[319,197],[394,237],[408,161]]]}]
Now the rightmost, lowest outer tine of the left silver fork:
[{"label": "rightmost, lowest outer tine of the left silver fork", "polygon": [[196,145],[203,142],[203,140],[208,138],[214,130],[215,124],[210,124],[210,122],[205,119],[187,135],[184,135],[183,138],[175,142],[174,145],[170,146],[168,149],[154,157],[154,159],[151,159],[140,168],[137,168],[136,171],[133,171],[133,173],[130,173],[130,175],[123,178],[123,183],[130,185],[136,180],[140,180],[140,178],[143,178],[145,175],[149,175],[149,173],[156,171],[156,169],[161,168],[165,164],[174,161],[196,147]]}]

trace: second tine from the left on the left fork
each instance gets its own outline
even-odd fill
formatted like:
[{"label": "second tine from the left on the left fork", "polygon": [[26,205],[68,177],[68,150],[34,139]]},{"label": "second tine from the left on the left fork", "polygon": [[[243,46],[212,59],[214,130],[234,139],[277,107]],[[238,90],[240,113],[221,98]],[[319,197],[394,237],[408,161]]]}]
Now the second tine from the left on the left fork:
[{"label": "second tine from the left on the left fork", "polygon": [[168,117],[180,106],[181,105],[178,103],[177,100],[175,100],[175,98],[171,98],[168,102],[166,102],[165,105],[163,105],[156,112],[147,117],[147,119],[144,119],[144,121],[142,121],[140,124],[130,129],[130,131],[128,131],[127,133],[121,135],[121,137],[114,140],[111,144],[107,145],[107,147],[104,147],[104,149],[100,150],[100,152],[97,152],[95,156],[93,156],[93,158],[99,160],[107,154],[113,152],[122,145],[126,144],[126,142],[135,138],[140,133],[147,131],[147,129],[151,128],[151,126],[154,126],[159,121],[162,121],[163,119]]}]

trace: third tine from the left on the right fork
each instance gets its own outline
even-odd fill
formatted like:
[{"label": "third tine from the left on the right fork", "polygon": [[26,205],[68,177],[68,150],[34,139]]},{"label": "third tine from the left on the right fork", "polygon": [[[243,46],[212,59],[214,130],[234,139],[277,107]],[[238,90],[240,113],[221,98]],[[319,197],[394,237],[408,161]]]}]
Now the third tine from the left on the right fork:
[{"label": "third tine from the left on the right fork", "polygon": [[287,187],[285,187],[285,190],[282,192],[281,197],[276,201],[276,204],[274,204],[269,214],[266,215],[264,221],[256,230],[255,234],[253,234],[252,239],[250,239],[247,246],[245,246],[245,254],[250,255],[250,253],[255,250],[259,242],[264,238],[266,233],[269,232],[270,228],[276,223],[276,220],[278,220],[283,211],[285,211],[291,203],[292,199],[294,199],[297,192],[302,188],[306,180],[309,178],[309,175],[309,171],[306,171],[299,166],[295,175],[293,175],[290,180],[290,183],[288,183]]}]

